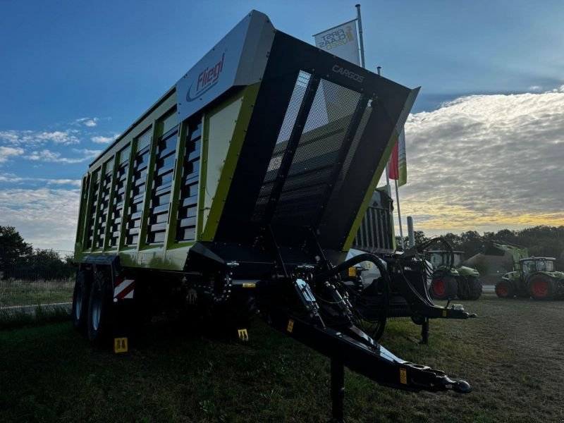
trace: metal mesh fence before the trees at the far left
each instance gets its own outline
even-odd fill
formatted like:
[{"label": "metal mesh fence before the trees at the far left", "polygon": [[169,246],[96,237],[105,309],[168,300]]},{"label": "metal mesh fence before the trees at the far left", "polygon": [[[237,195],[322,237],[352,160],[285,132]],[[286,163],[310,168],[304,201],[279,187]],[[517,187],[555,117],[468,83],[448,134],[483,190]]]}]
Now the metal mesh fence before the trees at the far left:
[{"label": "metal mesh fence before the trees at the far left", "polygon": [[71,251],[0,250],[0,317],[71,309],[75,274]]}]

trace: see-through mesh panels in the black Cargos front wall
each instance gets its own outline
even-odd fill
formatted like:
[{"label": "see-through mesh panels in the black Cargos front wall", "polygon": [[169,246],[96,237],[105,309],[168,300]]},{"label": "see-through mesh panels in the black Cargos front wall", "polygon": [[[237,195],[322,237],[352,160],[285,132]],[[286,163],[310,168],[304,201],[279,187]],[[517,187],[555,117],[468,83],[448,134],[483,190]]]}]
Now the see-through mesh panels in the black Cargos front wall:
[{"label": "see-through mesh panels in the black Cargos front wall", "polygon": [[[297,124],[298,113],[305,101],[307,85],[312,75],[300,71],[286,111],[269,168],[264,176],[253,219],[263,221],[266,204],[278,201],[272,221],[299,226],[312,225],[322,212],[327,186],[331,183],[334,166],[338,165],[339,152],[345,142],[360,93],[321,79],[314,93],[311,109],[305,111],[307,119],[293,153],[283,189],[278,199],[273,199],[273,186],[280,181],[281,162],[287,154],[289,137]],[[364,124],[366,121],[364,120]],[[356,141],[358,143],[358,140]],[[349,159],[350,162],[350,159]]]}]

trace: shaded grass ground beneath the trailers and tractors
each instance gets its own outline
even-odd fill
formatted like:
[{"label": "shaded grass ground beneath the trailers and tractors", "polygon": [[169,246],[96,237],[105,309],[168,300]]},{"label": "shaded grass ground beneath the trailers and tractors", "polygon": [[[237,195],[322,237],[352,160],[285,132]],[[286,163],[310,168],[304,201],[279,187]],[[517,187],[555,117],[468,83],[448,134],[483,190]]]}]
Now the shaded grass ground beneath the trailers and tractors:
[{"label": "shaded grass ground beneath the trailers and tractors", "polygon": [[[562,422],[564,302],[486,294],[468,321],[389,324],[381,343],[466,379],[472,393],[407,393],[345,374],[347,422]],[[255,321],[250,342],[152,324],[131,353],[92,350],[68,322],[0,332],[0,422],[323,422],[329,360]],[[186,332],[186,331],[185,331]]]}]

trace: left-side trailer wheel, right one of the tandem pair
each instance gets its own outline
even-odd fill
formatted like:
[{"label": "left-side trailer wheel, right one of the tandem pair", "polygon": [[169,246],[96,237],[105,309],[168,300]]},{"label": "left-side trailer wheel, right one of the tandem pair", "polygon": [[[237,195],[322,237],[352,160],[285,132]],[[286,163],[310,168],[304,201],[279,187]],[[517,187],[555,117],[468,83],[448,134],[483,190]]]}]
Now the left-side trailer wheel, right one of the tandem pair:
[{"label": "left-side trailer wheel, right one of the tandem pair", "polygon": [[94,274],[88,303],[88,339],[99,344],[111,336],[114,290],[106,271]]}]

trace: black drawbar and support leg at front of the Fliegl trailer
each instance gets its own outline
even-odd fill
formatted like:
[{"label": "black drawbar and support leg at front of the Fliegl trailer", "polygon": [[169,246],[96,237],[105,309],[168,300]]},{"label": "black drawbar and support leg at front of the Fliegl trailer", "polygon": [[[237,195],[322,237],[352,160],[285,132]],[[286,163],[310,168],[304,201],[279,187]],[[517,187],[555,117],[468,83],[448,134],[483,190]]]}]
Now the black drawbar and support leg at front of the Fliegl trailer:
[{"label": "black drawbar and support leg at front of the Fliegl trailer", "polygon": [[[336,293],[336,290],[331,289],[331,283],[324,283],[326,290],[316,294],[309,284],[300,279],[293,281],[293,286],[300,302],[305,305],[305,310],[297,312],[280,303],[269,302],[262,308],[263,317],[278,331],[331,358],[331,400],[334,421],[343,421],[345,366],[378,384],[391,388],[405,391],[452,390],[458,393],[470,393],[470,384],[466,381],[454,380],[440,370],[402,360],[376,343],[347,318],[350,309],[346,307],[346,299],[341,301],[338,297],[333,297],[330,301],[321,298],[320,295],[324,294],[326,297],[328,292]],[[274,298],[279,297],[276,295]],[[320,299],[321,308],[316,298]],[[327,309],[324,309],[328,307],[327,305],[334,307],[333,310],[336,311],[331,315],[331,319],[327,318]],[[326,324],[325,321],[331,321],[331,324]]]}]

